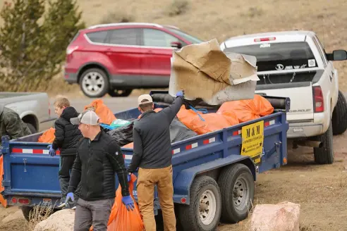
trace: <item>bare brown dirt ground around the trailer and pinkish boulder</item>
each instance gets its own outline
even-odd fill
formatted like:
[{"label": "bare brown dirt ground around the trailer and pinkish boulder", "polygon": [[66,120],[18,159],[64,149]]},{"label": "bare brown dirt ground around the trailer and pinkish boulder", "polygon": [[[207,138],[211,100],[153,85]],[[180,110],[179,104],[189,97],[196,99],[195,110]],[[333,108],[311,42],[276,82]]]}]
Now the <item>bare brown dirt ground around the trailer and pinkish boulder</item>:
[{"label": "bare brown dirt ground around the trailer and pinkish boulder", "polygon": [[[334,137],[335,162],[318,166],[312,150],[288,151],[288,165],[258,175],[255,204],[291,201],[300,204],[300,231],[342,231],[347,229],[347,133]],[[0,208],[1,231],[27,231],[24,218],[2,223],[16,207]],[[220,225],[218,231],[245,231],[249,220]]]}]

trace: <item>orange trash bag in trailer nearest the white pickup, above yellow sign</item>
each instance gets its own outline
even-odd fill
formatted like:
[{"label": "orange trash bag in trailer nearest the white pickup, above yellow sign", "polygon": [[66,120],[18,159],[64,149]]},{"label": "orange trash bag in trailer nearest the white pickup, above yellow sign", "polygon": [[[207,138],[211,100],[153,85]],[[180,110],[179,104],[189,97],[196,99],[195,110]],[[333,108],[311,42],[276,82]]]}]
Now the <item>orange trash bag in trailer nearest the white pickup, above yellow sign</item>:
[{"label": "orange trash bag in trailer nearest the white pickup, above yellow sign", "polygon": [[254,99],[225,102],[217,112],[222,114],[233,112],[238,121],[243,123],[271,114],[274,112],[274,107],[263,96],[255,94]]}]

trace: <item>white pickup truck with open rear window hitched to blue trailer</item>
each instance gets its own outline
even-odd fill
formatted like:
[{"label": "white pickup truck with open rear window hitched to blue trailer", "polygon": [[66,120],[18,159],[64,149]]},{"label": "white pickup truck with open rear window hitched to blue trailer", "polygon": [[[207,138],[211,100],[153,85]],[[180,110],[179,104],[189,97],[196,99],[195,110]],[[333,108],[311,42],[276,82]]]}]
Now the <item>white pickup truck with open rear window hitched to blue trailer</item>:
[{"label": "white pickup truck with open rear window hitched to blue trailer", "polygon": [[331,61],[346,60],[347,52],[326,54],[315,32],[298,30],[231,37],[221,50],[257,57],[256,93],[291,99],[294,147],[312,146],[316,163],[333,163],[332,137],[346,131],[347,104]]}]

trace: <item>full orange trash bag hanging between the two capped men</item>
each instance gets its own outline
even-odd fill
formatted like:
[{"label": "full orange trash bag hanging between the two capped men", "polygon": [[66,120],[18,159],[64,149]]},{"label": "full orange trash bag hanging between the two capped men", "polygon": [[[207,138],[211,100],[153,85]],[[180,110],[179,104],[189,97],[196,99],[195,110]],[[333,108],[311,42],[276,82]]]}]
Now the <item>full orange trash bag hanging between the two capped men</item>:
[{"label": "full orange trash bag hanging between the two capped men", "polygon": [[[133,196],[134,182],[136,180],[135,175],[131,175],[129,182],[130,196],[134,200],[134,210],[128,211],[126,206],[122,203],[121,185],[118,185],[116,192],[116,199],[114,200],[114,206],[112,207],[111,214],[109,216],[109,223],[107,223],[107,231],[142,231],[145,230],[138,204]],[[90,227],[92,231],[92,227]]]}]

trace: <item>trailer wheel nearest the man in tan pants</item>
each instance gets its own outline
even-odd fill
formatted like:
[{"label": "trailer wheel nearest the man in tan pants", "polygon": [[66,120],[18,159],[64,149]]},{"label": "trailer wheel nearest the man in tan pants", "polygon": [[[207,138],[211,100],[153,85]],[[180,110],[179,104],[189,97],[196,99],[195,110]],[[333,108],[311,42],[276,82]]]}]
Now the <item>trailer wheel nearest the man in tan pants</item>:
[{"label": "trailer wheel nearest the man in tan pants", "polygon": [[217,229],[221,218],[221,192],[212,177],[195,178],[190,187],[190,204],[179,207],[178,218],[183,231]]}]

